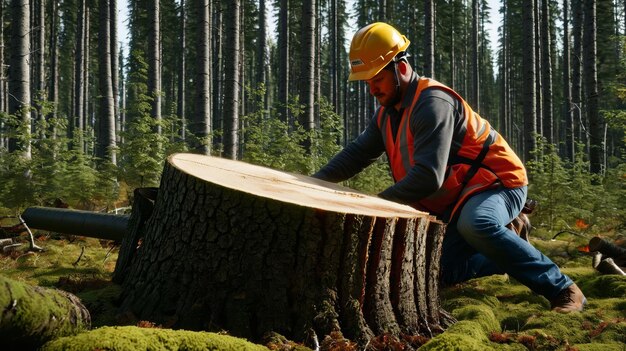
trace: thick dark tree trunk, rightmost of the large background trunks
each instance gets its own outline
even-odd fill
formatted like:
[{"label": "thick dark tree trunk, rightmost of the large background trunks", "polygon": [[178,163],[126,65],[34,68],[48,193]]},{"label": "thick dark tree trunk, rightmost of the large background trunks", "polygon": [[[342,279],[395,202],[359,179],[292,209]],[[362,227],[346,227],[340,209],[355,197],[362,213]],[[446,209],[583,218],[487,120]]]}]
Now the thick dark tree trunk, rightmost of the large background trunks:
[{"label": "thick dark tree trunk, rightmost of the large background trunks", "polygon": [[596,0],[584,0],[585,25],[583,37],[583,58],[587,120],[589,121],[589,163],[591,172],[604,172],[604,123],[598,111],[598,68],[596,48]]}]

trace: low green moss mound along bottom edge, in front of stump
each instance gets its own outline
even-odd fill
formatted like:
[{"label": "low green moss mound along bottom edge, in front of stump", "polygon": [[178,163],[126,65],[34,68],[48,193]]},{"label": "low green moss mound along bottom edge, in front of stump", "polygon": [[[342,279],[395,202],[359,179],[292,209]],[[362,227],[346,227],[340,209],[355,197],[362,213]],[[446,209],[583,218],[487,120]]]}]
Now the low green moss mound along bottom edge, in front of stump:
[{"label": "low green moss mound along bottom edge, in front of stump", "polygon": [[244,339],[209,332],[138,327],[103,327],[44,345],[43,351],[91,350],[268,350]]}]

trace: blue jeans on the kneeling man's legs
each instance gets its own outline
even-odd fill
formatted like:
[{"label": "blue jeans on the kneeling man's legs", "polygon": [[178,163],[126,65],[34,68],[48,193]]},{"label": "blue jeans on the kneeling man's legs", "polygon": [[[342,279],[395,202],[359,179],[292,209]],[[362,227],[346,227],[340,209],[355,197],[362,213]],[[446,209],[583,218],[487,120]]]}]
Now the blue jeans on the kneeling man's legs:
[{"label": "blue jeans on the kneeling man's legs", "polygon": [[526,193],[526,187],[502,187],[467,201],[446,229],[441,257],[444,284],[507,273],[552,299],[573,283],[548,257],[505,227],[521,212]]}]

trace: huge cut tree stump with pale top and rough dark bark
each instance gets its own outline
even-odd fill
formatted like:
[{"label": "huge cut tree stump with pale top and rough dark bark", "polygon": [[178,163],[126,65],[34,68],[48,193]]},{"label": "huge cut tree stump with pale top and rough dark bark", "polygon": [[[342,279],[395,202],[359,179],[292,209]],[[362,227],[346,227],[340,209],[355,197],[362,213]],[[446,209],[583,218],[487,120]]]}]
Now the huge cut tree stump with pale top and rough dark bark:
[{"label": "huge cut tree stump with pale top and rough dark bark", "polygon": [[138,244],[122,244],[133,249],[115,272],[134,318],[253,340],[341,331],[362,345],[432,336],[449,321],[438,295],[444,225],[411,207],[193,154],[169,157],[149,216],[142,203],[127,236]]}]

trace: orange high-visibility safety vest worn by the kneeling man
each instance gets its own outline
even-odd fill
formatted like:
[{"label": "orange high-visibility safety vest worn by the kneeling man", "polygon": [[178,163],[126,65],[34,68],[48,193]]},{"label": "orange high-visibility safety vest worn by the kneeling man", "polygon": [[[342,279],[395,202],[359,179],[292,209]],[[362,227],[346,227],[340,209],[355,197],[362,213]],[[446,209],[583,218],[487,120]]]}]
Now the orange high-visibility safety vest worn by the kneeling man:
[{"label": "orange high-visibility safety vest worn by the kneeling man", "polygon": [[472,194],[500,184],[507,188],[528,184],[522,161],[489,122],[474,112],[454,90],[428,78],[419,78],[411,106],[402,115],[395,141],[389,115],[384,113],[384,107],[378,110],[377,124],[396,182],[402,180],[415,165],[410,117],[421,92],[428,88],[443,90],[463,103],[465,133],[463,140],[459,140],[461,147],[456,157],[451,155],[448,160],[442,186],[435,193],[416,201],[413,207],[449,220]]}]

